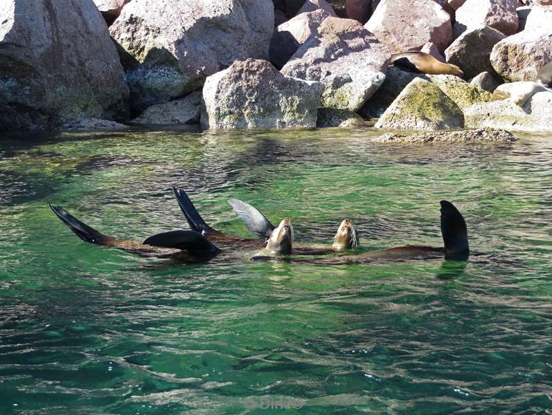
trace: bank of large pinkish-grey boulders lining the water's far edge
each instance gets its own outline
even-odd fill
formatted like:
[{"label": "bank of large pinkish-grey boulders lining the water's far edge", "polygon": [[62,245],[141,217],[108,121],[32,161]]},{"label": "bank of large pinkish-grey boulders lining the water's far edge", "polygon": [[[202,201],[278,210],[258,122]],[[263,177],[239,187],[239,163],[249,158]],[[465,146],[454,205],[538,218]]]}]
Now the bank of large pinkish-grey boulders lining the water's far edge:
[{"label": "bank of large pinkish-grey boulders lining the water's far edge", "polygon": [[552,0],[6,0],[0,131],[552,131],[551,61]]}]

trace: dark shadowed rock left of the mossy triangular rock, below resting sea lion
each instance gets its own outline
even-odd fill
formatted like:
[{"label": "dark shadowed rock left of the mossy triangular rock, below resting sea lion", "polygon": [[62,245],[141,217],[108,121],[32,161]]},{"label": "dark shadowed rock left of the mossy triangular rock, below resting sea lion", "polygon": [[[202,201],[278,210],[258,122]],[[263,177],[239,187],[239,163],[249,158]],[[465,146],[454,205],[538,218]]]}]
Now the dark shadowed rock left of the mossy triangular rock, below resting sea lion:
[{"label": "dark shadowed rock left of the mossy triangular rock, below resting sea lion", "polygon": [[396,66],[389,66],[384,83],[359,109],[358,113],[363,118],[380,118],[404,88],[418,77],[429,80],[427,75],[402,71]]}]

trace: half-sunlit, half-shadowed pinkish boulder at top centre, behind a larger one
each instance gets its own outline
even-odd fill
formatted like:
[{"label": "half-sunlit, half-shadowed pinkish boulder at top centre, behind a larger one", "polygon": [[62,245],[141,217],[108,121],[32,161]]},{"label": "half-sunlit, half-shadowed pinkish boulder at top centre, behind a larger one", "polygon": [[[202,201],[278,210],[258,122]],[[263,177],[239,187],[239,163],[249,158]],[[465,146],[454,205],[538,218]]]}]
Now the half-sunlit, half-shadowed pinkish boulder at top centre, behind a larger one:
[{"label": "half-sunlit, half-shadowed pinkish boulder at top centre, behind a larger one", "polygon": [[270,62],[281,69],[299,46],[316,32],[322,21],[330,17],[325,10],[301,13],[276,28],[270,42]]}]

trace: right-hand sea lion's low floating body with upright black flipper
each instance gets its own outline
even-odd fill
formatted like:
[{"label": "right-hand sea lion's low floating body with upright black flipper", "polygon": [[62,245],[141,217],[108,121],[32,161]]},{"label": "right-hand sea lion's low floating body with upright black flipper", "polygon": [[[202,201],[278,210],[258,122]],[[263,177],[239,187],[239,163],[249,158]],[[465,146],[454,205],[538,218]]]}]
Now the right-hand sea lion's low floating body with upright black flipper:
[{"label": "right-hand sea lion's low floating body with upright black flipper", "polygon": [[[292,262],[325,265],[369,264],[373,261],[405,261],[412,259],[434,259],[442,257],[456,261],[467,260],[468,257],[470,257],[468,229],[462,214],[449,201],[440,201],[440,229],[443,236],[444,247],[400,246],[397,248],[375,250],[359,255],[344,255],[339,258],[288,258],[286,260]],[[253,257],[251,259],[264,260],[269,258]]]}]

